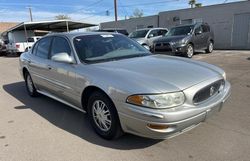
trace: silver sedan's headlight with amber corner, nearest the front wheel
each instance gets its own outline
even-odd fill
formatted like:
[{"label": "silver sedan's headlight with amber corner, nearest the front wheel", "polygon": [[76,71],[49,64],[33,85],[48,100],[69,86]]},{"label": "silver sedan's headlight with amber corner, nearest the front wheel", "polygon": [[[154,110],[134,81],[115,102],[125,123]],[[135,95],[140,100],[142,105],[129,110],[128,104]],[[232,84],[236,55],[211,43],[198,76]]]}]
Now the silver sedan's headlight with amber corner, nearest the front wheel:
[{"label": "silver sedan's headlight with amber corner, nearest the front wheel", "polygon": [[156,94],[156,95],[132,95],[127,98],[127,102],[150,108],[171,108],[182,105],[185,101],[183,92]]}]

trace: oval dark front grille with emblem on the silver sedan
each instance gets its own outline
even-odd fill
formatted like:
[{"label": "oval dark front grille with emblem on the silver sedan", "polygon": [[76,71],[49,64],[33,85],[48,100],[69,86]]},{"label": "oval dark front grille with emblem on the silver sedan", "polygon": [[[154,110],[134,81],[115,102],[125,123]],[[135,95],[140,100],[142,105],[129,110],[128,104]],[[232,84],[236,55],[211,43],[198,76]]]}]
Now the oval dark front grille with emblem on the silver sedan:
[{"label": "oval dark front grille with emblem on the silver sedan", "polygon": [[193,98],[194,104],[198,104],[207,100],[208,98],[218,94],[220,92],[220,88],[224,87],[225,80],[216,81],[205,88],[198,91]]}]

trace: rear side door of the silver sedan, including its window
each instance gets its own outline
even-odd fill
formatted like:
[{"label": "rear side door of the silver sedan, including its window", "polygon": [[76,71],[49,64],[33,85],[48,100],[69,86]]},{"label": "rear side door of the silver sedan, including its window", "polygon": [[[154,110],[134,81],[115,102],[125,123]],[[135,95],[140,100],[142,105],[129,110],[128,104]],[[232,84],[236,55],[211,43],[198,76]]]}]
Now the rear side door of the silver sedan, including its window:
[{"label": "rear side door of the silver sedan, including its window", "polygon": [[52,37],[46,37],[37,42],[32,48],[31,58],[28,60],[31,77],[37,88],[42,91],[49,91],[51,87],[48,68],[51,40]]}]

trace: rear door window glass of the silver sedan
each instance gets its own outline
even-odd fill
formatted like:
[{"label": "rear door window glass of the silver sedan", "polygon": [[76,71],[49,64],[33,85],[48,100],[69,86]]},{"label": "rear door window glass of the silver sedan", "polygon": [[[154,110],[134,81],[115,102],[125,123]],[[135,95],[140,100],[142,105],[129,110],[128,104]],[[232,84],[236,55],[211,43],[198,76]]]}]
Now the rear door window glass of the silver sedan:
[{"label": "rear door window glass of the silver sedan", "polygon": [[39,44],[37,46],[36,56],[48,59],[51,40],[52,40],[51,37],[47,37],[39,41]]}]

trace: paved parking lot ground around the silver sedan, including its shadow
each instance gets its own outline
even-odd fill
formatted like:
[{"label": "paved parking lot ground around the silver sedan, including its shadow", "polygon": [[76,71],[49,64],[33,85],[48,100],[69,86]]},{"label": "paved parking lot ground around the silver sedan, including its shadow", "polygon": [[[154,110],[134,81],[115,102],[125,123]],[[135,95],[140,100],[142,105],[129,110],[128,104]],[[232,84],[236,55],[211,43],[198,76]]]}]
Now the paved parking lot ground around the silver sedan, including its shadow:
[{"label": "paved parking lot ground around the silver sedan, including its shadow", "polygon": [[168,140],[126,134],[106,141],[81,112],[45,96],[29,97],[18,57],[0,57],[0,160],[248,161],[250,51],[214,51],[193,59],[226,71],[232,95],[220,113]]}]

